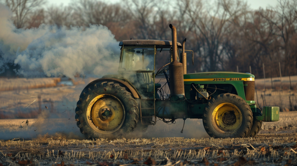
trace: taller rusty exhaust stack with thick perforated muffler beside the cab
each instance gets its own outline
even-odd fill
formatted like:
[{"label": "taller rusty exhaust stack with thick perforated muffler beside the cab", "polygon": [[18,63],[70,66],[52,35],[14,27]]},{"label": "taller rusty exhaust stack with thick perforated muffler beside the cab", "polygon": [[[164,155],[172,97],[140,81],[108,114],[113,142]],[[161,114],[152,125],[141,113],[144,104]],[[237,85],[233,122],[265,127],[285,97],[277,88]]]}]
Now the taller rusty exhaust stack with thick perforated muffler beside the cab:
[{"label": "taller rusty exhaust stack with thick perforated muffler beside the cab", "polygon": [[184,97],[184,74],[183,64],[177,61],[177,41],[176,41],[176,28],[170,24],[172,33],[172,59],[169,64],[169,79],[170,79],[170,96]]}]

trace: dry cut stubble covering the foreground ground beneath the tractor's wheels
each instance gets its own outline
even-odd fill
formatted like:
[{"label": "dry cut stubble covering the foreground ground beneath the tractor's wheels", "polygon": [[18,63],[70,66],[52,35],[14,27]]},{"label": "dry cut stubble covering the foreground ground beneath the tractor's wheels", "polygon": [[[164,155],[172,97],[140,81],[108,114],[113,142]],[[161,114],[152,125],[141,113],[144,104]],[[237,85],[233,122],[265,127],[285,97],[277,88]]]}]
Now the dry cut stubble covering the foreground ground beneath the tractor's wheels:
[{"label": "dry cut stubble covering the foreground ground beneath the tractor's wheels", "polygon": [[255,138],[0,141],[3,165],[296,165],[296,112],[263,123]]}]

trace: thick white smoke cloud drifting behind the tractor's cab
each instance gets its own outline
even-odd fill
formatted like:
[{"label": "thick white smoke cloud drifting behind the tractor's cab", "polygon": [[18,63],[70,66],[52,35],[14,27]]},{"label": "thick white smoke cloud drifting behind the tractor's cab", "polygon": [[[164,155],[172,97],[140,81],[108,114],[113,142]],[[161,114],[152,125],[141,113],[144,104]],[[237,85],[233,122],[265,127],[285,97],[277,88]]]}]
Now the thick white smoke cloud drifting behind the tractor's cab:
[{"label": "thick white smoke cloud drifting behind the tractor's cab", "polygon": [[119,46],[107,27],[89,28],[41,25],[16,29],[10,10],[0,4],[0,73],[5,65],[20,65],[25,77],[75,75],[102,76],[118,69]]}]

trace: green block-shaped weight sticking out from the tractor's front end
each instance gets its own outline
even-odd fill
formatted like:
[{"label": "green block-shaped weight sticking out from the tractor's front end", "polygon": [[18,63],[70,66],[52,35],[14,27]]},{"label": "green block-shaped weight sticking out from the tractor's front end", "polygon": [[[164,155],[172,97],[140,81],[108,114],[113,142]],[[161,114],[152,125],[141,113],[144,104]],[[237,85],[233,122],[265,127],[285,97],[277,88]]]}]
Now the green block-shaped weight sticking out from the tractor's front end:
[{"label": "green block-shaped weight sticking out from the tractor's front end", "polygon": [[256,120],[263,120],[265,122],[279,121],[279,107],[263,107],[262,116],[255,117]]}]

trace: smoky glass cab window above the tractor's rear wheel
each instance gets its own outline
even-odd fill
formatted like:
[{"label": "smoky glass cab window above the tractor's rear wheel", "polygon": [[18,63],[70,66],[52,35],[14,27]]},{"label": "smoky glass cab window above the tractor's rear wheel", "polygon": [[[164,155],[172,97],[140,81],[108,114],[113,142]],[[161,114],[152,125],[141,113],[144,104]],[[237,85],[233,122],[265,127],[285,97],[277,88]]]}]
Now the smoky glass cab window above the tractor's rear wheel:
[{"label": "smoky glass cab window above the tractor's rear wheel", "polygon": [[154,71],[154,48],[124,48],[120,70]]}]

